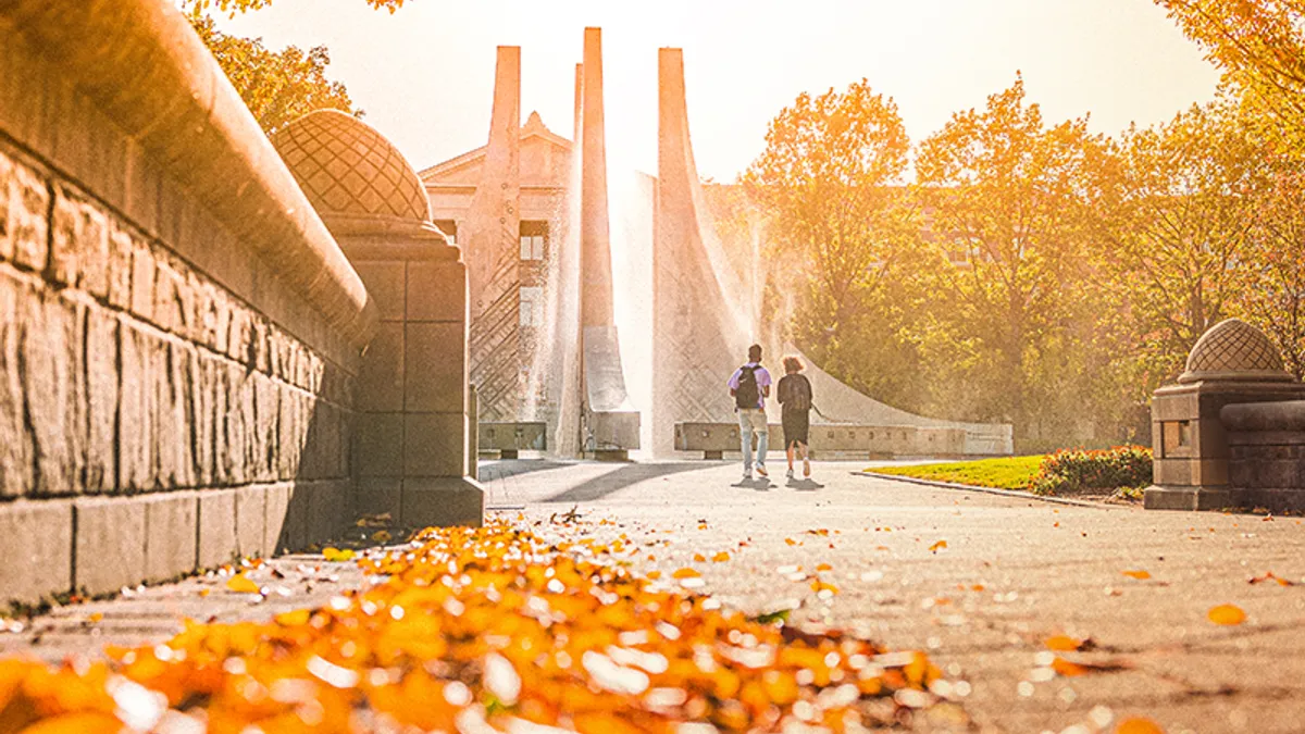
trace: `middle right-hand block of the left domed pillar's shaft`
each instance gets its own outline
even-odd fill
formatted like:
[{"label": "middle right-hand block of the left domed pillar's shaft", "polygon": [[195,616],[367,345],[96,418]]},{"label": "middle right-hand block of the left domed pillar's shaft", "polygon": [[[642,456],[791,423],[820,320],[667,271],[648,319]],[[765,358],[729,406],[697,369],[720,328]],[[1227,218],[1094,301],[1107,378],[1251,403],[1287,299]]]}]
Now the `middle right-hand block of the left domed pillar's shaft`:
[{"label": "middle right-hand block of the left domed pillar's shaft", "polygon": [[405,410],[462,413],[467,397],[465,328],[405,324]]}]

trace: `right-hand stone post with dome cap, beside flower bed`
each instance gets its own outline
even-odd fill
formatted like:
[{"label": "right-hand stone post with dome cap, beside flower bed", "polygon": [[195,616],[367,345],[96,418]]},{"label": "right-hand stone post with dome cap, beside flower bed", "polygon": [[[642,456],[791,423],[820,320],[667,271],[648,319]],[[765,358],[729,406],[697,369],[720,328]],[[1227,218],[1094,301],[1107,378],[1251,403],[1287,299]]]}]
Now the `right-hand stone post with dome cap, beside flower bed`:
[{"label": "right-hand stone post with dome cap, beside flower bed", "polygon": [[1228,319],[1207,330],[1188,355],[1178,384],[1151,400],[1155,485],[1147,509],[1223,509],[1250,499],[1231,482],[1229,436],[1220,411],[1235,404],[1305,398],[1305,385],[1283,370],[1278,349],[1258,329]]}]

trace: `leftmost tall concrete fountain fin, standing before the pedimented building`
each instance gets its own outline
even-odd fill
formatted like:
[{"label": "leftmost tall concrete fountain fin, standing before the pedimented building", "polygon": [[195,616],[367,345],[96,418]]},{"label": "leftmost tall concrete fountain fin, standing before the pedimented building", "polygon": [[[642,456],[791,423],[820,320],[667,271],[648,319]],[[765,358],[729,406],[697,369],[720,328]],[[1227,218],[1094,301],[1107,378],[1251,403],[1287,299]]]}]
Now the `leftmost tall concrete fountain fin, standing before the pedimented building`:
[{"label": "leftmost tall concrete fountain fin, standing before the pedimented building", "polygon": [[500,46],[489,142],[480,182],[459,232],[470,269],[471,376],[482,413],[515,421],[521,413],[521,48]]}]

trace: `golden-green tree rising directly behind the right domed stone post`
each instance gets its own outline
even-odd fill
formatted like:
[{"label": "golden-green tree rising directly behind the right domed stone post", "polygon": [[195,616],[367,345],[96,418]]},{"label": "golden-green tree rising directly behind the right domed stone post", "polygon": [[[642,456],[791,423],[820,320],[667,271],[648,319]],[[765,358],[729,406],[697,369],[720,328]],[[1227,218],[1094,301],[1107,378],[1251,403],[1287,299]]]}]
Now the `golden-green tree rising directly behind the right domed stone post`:
[{"label": "golden-green tree rising directly behind the right domed stone post", "polygon": [[1121,161],[1107,261],[1156,377],[1173,377],[1241,295],[1259,155],[1237,108],[1220,101],[1129,129]]}]

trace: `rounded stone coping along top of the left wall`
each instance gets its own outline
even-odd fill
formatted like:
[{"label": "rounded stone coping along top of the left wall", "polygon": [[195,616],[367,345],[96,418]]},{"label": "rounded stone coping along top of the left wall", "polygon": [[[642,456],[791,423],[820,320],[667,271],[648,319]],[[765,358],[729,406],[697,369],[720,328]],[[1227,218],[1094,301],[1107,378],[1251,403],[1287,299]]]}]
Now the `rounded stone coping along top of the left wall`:
[{"label": "rounded stone coping along top of the left wall", "polygon": [[363,281],[172,3],[9,0],[4,26],[361,350],[378,320]]}]

